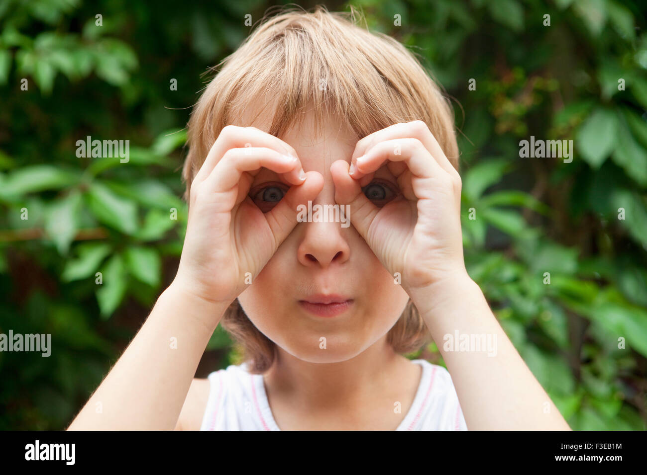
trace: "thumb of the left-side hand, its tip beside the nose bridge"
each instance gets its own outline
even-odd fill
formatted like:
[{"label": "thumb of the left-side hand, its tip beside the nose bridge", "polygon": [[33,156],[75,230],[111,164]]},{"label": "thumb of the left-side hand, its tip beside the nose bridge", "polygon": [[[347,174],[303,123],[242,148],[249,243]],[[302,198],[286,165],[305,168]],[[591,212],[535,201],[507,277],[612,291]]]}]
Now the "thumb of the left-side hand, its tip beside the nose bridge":
[{"label": "thumb of the left-side hand, its tip beside the nose bridge", "polygon": [[291,187],[281,201],[265,213],[267,223],[274,235],[276,248],[296,226],[298,206],[300,204],[307,206],[307,202],[314,200],[323,189],[323,176],[320,173],[309,171],[305,177],[302,185]]}]

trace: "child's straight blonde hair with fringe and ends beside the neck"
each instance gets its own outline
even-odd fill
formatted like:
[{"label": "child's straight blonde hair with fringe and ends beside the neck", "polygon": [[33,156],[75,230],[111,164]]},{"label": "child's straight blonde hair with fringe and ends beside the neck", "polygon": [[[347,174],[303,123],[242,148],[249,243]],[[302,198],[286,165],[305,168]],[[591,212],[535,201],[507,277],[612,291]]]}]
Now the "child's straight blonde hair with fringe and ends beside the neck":
[{"label": "child's straight blonde hair with fringe and ends beside the neck", "polygon": [[[189,152],[182,169],[186,202],[193,177],[220,131],[229,124],[250,125],[241,123],[241,117],[252,98],[271,98],[276,104],[267,132],[277,137],[300,123],[305,112],[314,112],[319,130],[334,114],[358,138],[395,123],[422,120],[458,170],[449,101],[407,48],[358,26],[360,19],[353,7],[342,13],[328,12],[322,5],[311,12],[288,8],[273,17],[266,14],[242,45],[214,67],[221,70],[188,123]],[[237,299],[221,324],[243,348],[250,371],[262,374],[270,368],[276,344],[252,324]],[[411,300],[387,335],[400,354],[419,350],[430,338]]]}]

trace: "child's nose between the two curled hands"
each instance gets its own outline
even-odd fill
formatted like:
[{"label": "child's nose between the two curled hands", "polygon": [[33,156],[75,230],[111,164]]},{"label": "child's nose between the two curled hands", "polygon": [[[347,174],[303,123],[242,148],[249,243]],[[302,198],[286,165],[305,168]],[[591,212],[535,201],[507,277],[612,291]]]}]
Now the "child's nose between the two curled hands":
[{"label": "child's nose between the two curled hands", "polygon": [[[303,266],[327,269],[333,263],[340,265],[349,259],[350,248],[346,238],[350,228],[342,227],[340,220],[336,222],[333,220],[337,216],[341,216],[337,211],[342,211],[334,199],[333,202],[322,201],[313,202],[313,220],[298,224],[298,226],[305,227],[305,233],[303,233],[302,241],[298,247],[298,259]],[[318,216],[316,215],[317,206],[320,206]],[[320,220],[316,220],[316,218],[320,218]],[[327,222],[326,218],[328,218]]]}]

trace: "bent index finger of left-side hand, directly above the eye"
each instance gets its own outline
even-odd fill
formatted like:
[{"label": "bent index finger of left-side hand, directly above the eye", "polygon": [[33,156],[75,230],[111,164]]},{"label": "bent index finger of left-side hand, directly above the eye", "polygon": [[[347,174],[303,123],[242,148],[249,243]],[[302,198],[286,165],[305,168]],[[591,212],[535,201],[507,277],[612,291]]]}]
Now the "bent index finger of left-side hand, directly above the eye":
[{"label": "bent index finger of left-side hand, directly above the eye", "polygon": [[[300,166],[296,156],[278,153],[266,147],[245,147],[244,149],[229,149],[223,158],[215,165],[212,173],[204,180],[204,187],[213,193],[230,191],[241,181],[246,171],[258,170],[265,167],[278,174],[285,173]],[[302,180],[294,180],[292,184],[302,184]],[[245,191],[245,193],[247,193]]]}]

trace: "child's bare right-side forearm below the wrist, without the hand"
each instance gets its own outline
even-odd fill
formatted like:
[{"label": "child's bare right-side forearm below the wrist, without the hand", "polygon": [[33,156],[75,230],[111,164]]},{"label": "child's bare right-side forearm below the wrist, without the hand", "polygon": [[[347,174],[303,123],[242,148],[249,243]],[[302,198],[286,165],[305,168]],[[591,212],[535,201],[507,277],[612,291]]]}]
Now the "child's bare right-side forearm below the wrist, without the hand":
[{"label": "child's bare right-side forearm below the wrist, without the hand", "polygon": [[[468,275],[413,291],[411,299],[443,355],[470,430],[569,429]],[[462,335],[490,348],[461,348]]]}]

